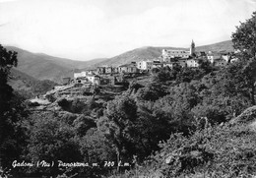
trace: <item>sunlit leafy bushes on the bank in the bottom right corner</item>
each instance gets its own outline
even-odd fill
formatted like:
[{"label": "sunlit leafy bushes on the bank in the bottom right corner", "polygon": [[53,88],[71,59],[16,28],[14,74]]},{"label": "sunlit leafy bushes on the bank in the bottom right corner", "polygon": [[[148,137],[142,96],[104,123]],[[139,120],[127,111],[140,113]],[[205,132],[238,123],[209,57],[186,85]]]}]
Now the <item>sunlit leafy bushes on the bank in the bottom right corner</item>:
[{"label": "sunlit leafy bushes on the bank in the bottom right corner", "polygon": [[112,177],[252,177],[256,133],[246,125],[217,126],[190,137],[173,134],[144,166]]}]

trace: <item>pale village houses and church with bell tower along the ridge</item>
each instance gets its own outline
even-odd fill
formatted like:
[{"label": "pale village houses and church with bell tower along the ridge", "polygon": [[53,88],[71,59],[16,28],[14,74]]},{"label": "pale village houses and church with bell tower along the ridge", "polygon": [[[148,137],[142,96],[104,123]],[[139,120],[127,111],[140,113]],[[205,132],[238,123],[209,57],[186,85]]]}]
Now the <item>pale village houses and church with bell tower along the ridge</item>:
[{"label": "pale village houses and church with bell tower along the ridge", "polygon": [[[174,65],[181,67],[199,67],[200,60],[208,60],[215,66],[224,66],[229,62],[235,61],[231,53],[221,52],[197,52],[195,50],[195,43],[192,40],[189,50],[173,50],[162,49],[161,55],[155,60],[142,60],[139,62],[131,62],[130,64],[120,65],[118,67],[101,66],[95,70],[83,71],[81,73],[74,73],[74,83],[90,83],[90,84],[115,84],[121,82],[118,79],[118,74],[137,74],[142,72],[149,72],[154,68],[162,68],[168,66],[172,68]],[[111,77],[110,77],[111,76]],[[66,78],[66,82],[70,82]]]}]

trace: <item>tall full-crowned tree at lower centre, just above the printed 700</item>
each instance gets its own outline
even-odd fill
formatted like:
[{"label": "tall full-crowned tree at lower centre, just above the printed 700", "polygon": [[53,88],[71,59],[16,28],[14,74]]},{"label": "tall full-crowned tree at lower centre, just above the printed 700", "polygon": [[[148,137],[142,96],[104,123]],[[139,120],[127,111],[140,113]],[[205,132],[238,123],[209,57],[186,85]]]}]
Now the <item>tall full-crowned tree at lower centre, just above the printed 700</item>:
[{"label": "tall full-crowned tree at lower centre, just above the printed 700", "polygon": [[106,115],[97,123],[105,138],[116,148],[118,162],[120,158],[130,158],[135,153],[132,131],[136,119],[136,102],[124,95],[108,102]]}]

